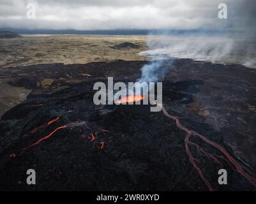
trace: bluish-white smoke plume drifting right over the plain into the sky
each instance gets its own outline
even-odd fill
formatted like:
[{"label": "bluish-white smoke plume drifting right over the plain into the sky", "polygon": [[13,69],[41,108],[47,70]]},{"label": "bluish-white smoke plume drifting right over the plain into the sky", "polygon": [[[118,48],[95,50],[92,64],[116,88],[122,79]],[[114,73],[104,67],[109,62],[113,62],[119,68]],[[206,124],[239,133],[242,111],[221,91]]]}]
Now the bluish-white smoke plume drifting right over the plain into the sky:
[{"label": "bluish-white smoke plume drifting right over the plain into the sky", "polygon": [[[159,56],[188,58],[222,64],[241,64],[256,68],[256,2],[253,0],[227,1],[228,18],[219,19],[218,27],[210,31],[173,31],[150,34],[147,38],[149,50],[140,52],[152,59]],[[139,81],[157,80],[163,77],[162,63],[153,62],[142,68]]]}]

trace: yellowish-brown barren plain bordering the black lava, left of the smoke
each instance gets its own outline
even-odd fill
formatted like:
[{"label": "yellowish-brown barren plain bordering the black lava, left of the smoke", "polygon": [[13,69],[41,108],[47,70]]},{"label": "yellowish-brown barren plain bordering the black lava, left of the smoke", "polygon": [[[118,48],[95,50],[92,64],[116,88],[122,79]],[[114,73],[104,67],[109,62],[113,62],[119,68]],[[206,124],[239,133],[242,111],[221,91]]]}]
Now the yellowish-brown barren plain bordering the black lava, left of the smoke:
[{"label": "yellowish-brown barren plain bordering the black lava, left of the smoke", "polygon": [[[130,42],[137,48],[112,48]],[[144,61],[137,55],[146,50],[146,36],[91,35],[25,35],[23,38],[0,39],[0,117],[4,112],[24,101],[31,89],[13,87],[9,77],[1,77],[1,69],[34,64],[86,64],[99,61]],[[20,76],[22,77],[22,76]],[[86,76],[85,76],[86,77]],[[41,85],[50,85],[45,78]]]}]

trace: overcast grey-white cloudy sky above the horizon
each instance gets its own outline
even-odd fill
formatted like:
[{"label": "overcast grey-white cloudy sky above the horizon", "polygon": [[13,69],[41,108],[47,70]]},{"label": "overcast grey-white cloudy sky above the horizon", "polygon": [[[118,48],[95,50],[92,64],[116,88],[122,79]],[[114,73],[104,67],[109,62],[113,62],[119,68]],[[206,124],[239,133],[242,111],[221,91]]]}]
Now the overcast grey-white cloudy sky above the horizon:
[{"label": "overcast grey-white cloudy sky above the horizon", "polygon": [[[248,22],[243,15],[250,17],[250,10],[255,13],[255,6],[248,6],[253,1],[0,0],[0,29],[221,29],[235,24],[243,27]],[[35,19],[26,17],[29,3],[36,5]],[[227,20],[218,18],[219,3],[228,6]]]}]

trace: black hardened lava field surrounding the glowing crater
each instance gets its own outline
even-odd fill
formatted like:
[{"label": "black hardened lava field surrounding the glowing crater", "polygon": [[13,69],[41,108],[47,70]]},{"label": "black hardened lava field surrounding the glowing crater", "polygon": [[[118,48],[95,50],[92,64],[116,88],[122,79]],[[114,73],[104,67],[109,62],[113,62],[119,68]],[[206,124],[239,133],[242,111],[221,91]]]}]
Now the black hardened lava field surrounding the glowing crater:
[{"label": "black hardened lava field surrounding the glowing crater", "polygon": [[[164,64],[170,70],[161,112],[94,105],[95,82],[135,81],[146,63],[3,69],[11,85],[32,91],[0,120],[0,189],[254,191],[256,159],[248,149],[256,145],[256,71],[179,59]],[[49,76],[46,87],[37,83]],[[29,168],[36,170],[34,186],[26,184]],[[218,185],[221,168],[228,185]]]}]

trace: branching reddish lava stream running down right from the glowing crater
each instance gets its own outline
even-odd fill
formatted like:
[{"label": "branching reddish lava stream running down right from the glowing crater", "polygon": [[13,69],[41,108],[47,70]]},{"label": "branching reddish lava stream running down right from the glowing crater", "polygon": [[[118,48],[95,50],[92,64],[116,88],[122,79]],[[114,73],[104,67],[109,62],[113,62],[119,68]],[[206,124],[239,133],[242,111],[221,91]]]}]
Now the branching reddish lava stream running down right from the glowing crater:
[{"label": "branching reddish lava stream running down right from the glowing crater", "polygon": [[176,121],[177,128],[179,128],[187,133],[186,137],[184,138],[186,154],[188,155],[188,158],[190,159],[190,163],[193,164],[193,167],[195,168],[195,170],[197,170],[197,172],[200,175],[200,178],[203,180],[204,184],[206,184],[209,191],[213,191],[213,187],[211,186],[209,181],[204,177],[204,173],[202,173],[202,170],[200,170],[199,166],[197,166],[197,163],[195,162],[196,159],[195,159],[195,157],[193,157],[192,152],[190,151],[189,145],[194,145],[195,147],[197,147],[197,150],[199,150],[201,153],[205,154],[207,157],[211,157],[212,159],[215,160],[215,162],[220,163],[217,158],[220,158],[220,159],[223,159],[223,158],[216,156],[214,154],[210,154],[209,152],[205,152],[204,150],[202,150],[202,148],[200,148],[199,145],[190,141],[190,138],[192,136],[197,136],[204,142],[206,142],[209,145],[212,145],[216,149],[220,150],[220,152],[222,152],[225,155],[225,157],[227,157],[226,161],[233,164],[234,167],[236,168],[237,172],[239,172],[241,175],[243,175],[243,177],[245,177],[248,180],[248,182],[250,182],[250,184],[252,184],[254,187],[256,187],[256,179],[255,179],[254,173],[252,173],[252,171],[248,170],[248,168],[246,168],[245,166],[242,166],[240,163],[238,163],[232,156],[230,156],[230,154],[227,152],[227,150],[225,150],[221,145],[209,140],[208,138],[206,138],[206,136],[200,135],[199,133],[197,133],[196,131],[193,131],[192,129],[185,128],[181,124],[181,122],[179,122],[179,119],[177,119],[177,117],[175,117],[175,116],[169,115],[169,113],[163,106],[162,106],[162,111],[165,116]]}]

